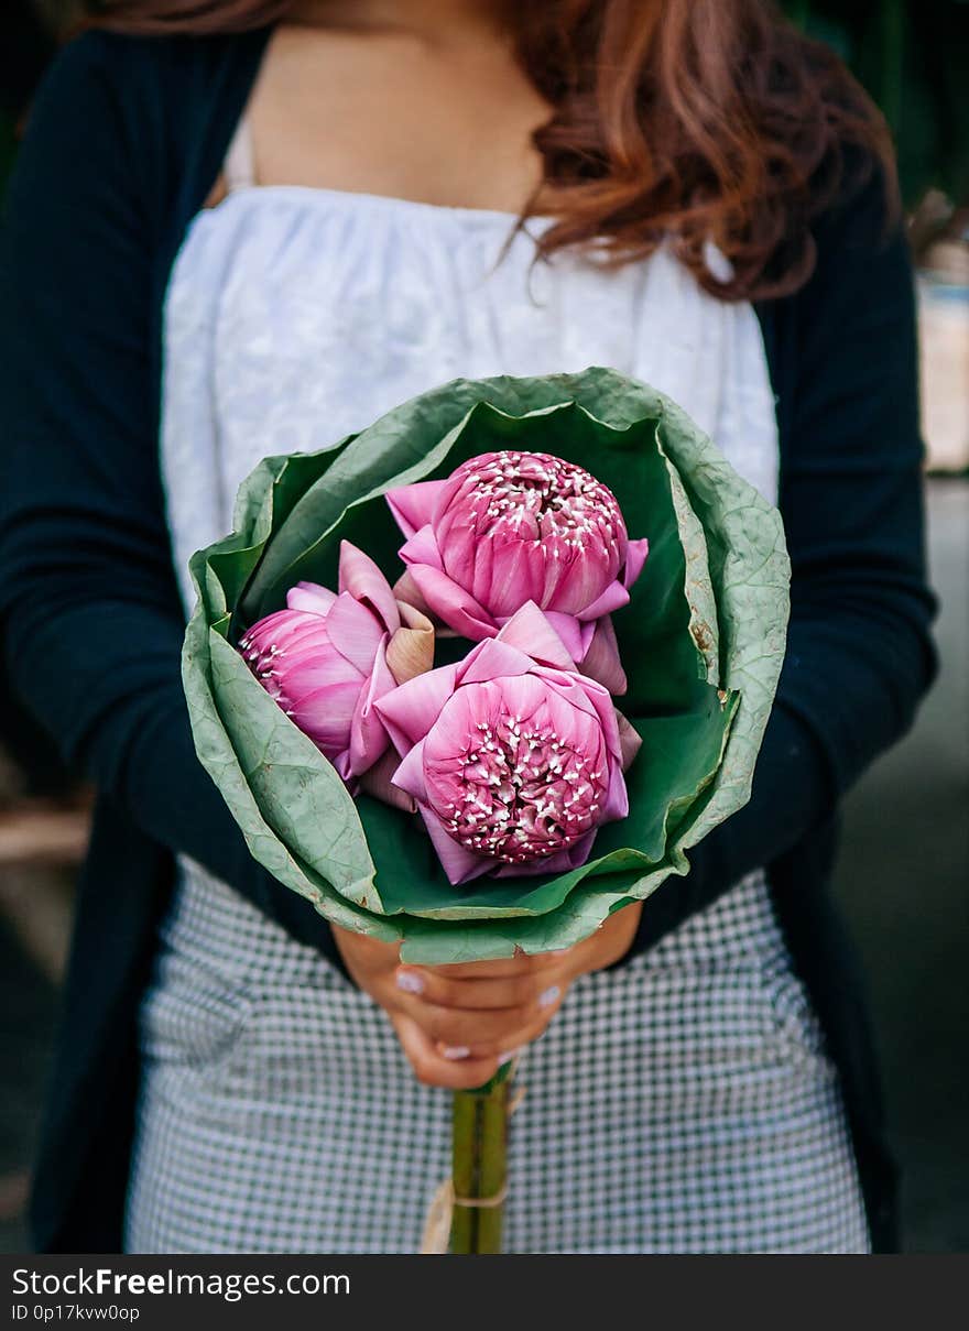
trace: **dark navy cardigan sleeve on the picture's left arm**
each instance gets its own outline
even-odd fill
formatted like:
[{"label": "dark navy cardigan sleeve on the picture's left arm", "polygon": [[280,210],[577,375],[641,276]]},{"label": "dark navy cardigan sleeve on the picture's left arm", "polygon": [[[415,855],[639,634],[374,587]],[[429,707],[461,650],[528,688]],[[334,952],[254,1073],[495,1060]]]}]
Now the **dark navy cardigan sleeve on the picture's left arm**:
[{"label": "dark navy cardigan sleeve on the picture's left arm", "polygon": [[152,181],[164,176],[164,136],[137,77],[112,39],[68,47],[41,88],[5,201],[7,668],[65,759],[144,832],[338,962],[329,926],[252,858],[194,753],[157,454],[162,221],[152,201],[162,200]]}]

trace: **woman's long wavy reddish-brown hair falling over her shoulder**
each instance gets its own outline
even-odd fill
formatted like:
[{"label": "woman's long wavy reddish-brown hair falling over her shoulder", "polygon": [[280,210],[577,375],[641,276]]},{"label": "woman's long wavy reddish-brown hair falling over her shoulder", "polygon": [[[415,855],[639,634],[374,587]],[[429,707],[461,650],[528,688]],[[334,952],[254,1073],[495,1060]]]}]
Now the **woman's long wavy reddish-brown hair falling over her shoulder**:
[{"label": "woman's long wavy reddish-brown hair falling over her shoulder", "polygon": [[[87,4],[97,25],[116,31],[200,35],[262,27],[291,8]],[[840,60],[769,0],[514,0],[507,21],[554,108],[535,133],[555,216],[542,254],[584,245],[624,264],[666,237],[708,291],[765,299],[811,276],[812,221],[848,177],[880,173],[889,216],[897,210],[881,114]],[[708,241],[731,276],[709,270]]]}]

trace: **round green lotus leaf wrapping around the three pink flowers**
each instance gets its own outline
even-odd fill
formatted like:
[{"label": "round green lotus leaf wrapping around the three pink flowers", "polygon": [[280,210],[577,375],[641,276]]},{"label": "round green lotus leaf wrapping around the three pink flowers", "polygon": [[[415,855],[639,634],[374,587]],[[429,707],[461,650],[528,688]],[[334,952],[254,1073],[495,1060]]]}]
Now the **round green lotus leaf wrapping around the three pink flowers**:
[{"label": "round green lotus leaf wrapping around the three pink flowers", "polygon": [[[234,648],[299,579],[335,586],[339,544],[393,582],[389,488],[496,449],[552,453],[607,484],[650,558],[614,616],[643,737],[630,816],[566,874],[451,886],[415,816],[353,800]],[[789,563],[780,516],[674,402],[614,370],[459,379],[318,454],[268,458],[236,530],[192,560],[198,602],[184,681],[200,760],[253,856],[335,924],[401,940],[410,961],[543,952],[688,872],[685,851],[749,797],[784,655]],[[439,654],[466,643],[442,640]],[[441,659],[441,655],[439,655]]]}]

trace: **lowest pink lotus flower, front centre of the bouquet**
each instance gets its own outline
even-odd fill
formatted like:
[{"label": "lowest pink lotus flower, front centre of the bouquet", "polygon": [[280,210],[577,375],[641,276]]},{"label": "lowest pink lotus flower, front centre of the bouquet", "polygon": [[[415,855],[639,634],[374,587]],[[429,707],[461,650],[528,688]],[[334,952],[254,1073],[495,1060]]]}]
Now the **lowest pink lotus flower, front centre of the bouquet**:
[{"label": "lowest pink lotus flower, front centre of the bouquet", "polygon": [[[540,666],[534,652],[556,664]],[[624,769],[640,739],[574,662],[534,603],[457,666],[377,700],[451,882],[564,873],[628,813]]]}]

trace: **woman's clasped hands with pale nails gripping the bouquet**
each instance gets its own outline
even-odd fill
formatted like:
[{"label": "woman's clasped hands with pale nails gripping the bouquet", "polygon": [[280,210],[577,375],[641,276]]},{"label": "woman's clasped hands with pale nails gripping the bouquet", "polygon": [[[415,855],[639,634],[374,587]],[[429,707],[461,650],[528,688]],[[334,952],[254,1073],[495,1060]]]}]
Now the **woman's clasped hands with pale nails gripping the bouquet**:
[{"label": "woman's clasped hands with pale nails gripping the bouquet", "polygon": [[579,976],[623,957],[642,905],[611,916],[562,952],[453,966],[402,965],[397,944],[333,929],[346,969],[390,1016],[418,1081],[481,1086],[500,1062],[544,1032]]}]

